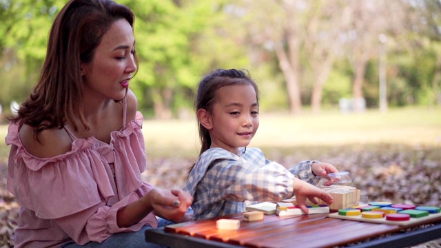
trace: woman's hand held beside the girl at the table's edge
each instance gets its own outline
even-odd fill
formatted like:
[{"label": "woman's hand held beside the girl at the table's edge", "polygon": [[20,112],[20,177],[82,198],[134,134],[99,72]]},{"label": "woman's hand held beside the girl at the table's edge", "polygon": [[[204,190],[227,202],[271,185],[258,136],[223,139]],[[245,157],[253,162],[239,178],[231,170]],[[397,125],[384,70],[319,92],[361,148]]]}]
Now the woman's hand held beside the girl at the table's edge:
[{"label": "woman's hand held beside the girl at the table's edge", "polygon": [[193,203],[192,196],[179,189],[154,188],[146,196],[154,209],[154,214],[174,222],[182,221],[187,209]]}]

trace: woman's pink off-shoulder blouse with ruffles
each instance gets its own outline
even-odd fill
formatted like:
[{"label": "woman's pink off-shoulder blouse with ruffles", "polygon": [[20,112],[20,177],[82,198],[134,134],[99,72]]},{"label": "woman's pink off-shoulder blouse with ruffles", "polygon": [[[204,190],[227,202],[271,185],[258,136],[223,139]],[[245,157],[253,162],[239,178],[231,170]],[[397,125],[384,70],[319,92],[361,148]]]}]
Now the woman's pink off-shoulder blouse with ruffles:
[{"label": "woman's pink off-shoulder blouse with ruffles", "polygon": [[11,123],[7,188],[21,205],[15,247],[59,247],[72,240],[83,245],[143,225],[155,228],[153,213],[131,227],[116,225],[116,212],[153,188],[141,179],[146,165],[142,123],[137,112],[123,130],[112,132],[110,144],[75,138],[70,152],[52,158],[29,154],[19,138],[21,124]]}]

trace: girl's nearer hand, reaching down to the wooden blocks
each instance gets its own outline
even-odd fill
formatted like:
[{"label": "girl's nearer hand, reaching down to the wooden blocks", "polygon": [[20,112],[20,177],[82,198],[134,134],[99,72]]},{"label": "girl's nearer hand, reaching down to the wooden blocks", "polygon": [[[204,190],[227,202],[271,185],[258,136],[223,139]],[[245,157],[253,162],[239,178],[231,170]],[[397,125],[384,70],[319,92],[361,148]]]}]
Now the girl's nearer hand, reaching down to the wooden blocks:
[{"label": "girl's nearer hand, reaching down to the wooden blocks", "polygon": [[334,198],[332,198],[328,192],[325,192],[322,189],[319,189],[318,187],[298,178],[294,178],[294,194],[296,195],[297,205],[300,207],[300,209],[305,211],[306,214],[308,214],[306,199],[311,200],[312,203],[318,204],[316,198],[320,198],[328,205],[334,201]]}]

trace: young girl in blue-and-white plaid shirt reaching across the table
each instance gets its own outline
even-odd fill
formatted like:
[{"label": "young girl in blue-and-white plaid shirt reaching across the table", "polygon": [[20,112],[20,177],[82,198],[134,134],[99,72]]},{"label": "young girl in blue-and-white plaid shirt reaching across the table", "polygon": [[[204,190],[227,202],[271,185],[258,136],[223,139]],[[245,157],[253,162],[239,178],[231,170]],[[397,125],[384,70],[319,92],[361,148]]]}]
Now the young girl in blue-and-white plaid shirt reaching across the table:
[{"label": "young girl in blue-and-white plaid shirt reaching across the table", "polygon": [[260,149],[247,147],[259,125],[258,100],[258,87],[244,71],[216,70],[199,83],[201,154],[184,187],[194,198],[194,220],[245,211],[245,200],[278,201],[296,195],[305,212],[306,198],[332,203],[327,192],[310,183],[318,182],[316,175],[338,172],[334,166],[304,161],[286,169],[267,160]]}]

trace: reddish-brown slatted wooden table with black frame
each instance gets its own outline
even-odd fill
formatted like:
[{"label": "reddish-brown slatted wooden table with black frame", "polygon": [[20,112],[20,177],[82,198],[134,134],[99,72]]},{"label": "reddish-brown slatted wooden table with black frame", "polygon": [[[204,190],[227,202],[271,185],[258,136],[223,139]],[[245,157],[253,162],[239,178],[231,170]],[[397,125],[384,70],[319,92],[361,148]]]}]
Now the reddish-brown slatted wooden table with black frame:
[{"label": "reddish-brown slatted wooden table with black frame", "polygon": [[[198,220],[145,231],[149,242],[168,247],[409,247],[441,238],[441,217],[416,225],[398,226],[329,218],[328,214],[309,216],[265,215],[263,220],[246,222],[242,214],[220,218],[239,219],[240,229],[218,230],[216,220]],[[404,232],[402,230],[407,230]],[[411,230],[411,231],[409,231]],[[399,234],[388,236],[387,234]]]}]

